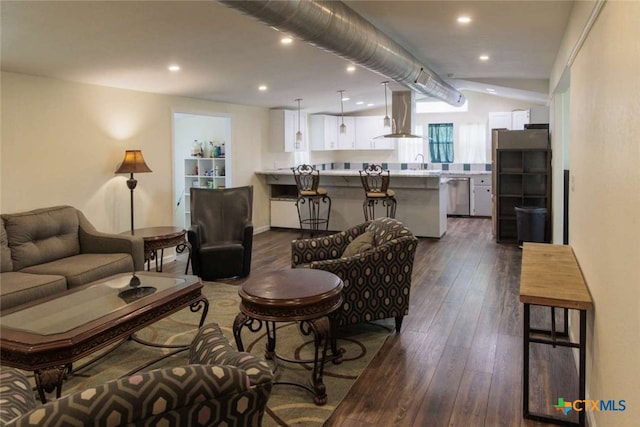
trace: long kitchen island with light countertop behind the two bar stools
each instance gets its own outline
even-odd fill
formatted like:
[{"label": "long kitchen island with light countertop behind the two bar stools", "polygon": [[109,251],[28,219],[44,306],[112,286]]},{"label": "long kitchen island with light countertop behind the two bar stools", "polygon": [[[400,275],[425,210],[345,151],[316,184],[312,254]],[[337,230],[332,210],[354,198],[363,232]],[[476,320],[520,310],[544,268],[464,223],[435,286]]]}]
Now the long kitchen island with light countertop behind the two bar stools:
[{"label": "long kitchen island with light countertop behind the two bar stools", "polygon": [[[299,228],[295,206],[297,189],[290,169],[256,172],[269,185],[271,226]],[[364,190],[357,170],[320,170],[320,186],[331,197],[329,230],[341,231],[364,222]],[[391,171],[389,188],[398,201],[396,218],[418,237],[440,238],[447,231],[447,188],[440,171]],[[376,208],[376,216],[384,216]]]}]

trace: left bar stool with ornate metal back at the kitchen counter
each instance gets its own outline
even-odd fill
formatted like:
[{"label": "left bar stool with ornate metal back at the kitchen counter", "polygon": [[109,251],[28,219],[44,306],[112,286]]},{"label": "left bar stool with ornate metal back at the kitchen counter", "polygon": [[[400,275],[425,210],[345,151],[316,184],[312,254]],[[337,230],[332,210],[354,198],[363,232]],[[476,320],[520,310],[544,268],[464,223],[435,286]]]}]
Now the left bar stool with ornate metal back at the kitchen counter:
[{"label": "left bar stool with ornate metal back at the kitchen counter", "polygon": [[321,227],[329,230],[329,215],[331,214],[331,198],[327,190],[320,188],[320,171],[312,165],[299,165],[291,168],[298,187],[298,219],[300,220],[300,237],[304,230],[309,230],[313,237]]}]

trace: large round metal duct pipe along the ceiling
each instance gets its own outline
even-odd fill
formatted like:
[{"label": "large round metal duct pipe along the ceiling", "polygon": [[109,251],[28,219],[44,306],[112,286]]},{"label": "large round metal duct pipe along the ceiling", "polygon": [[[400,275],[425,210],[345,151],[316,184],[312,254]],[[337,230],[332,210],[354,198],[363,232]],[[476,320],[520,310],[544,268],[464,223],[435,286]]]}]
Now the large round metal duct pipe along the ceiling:
[{"label": "large round metal duct pipe along the ceiling", "polygon": [[454,106],[464,104],[464,95],[340,1],[219,2],[393,79],[415,92]]}]

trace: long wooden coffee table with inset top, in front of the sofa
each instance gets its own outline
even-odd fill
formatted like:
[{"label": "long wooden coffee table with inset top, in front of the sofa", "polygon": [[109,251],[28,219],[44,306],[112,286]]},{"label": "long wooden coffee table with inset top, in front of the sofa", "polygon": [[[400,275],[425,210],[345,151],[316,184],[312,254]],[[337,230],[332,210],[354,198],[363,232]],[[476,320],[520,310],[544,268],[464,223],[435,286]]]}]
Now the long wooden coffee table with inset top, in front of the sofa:
[{"label": "long wooden coffee table with inset top, in front of the sofa", "polygon": [[[72,372],[72,364],[185,307],[209,310],[196,276],[138,272],[119,274],[7,310],[0,316],[3,365],[33,371],[40,400]],[[145,342],[137,340],[145,344]]]}]

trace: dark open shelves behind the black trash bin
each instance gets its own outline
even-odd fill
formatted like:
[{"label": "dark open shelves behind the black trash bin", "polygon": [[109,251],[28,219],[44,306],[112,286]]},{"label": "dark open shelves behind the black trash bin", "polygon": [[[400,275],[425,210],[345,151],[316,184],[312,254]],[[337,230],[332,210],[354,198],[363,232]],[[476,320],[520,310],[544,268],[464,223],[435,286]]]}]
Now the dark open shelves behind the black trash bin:
[{"label": "dark open shelves behind the black trash bin", "polygon": [[496,240],[518,239],[515,207],[547,209],[545,240],[551,236],[551,150],[498,149]]}]

